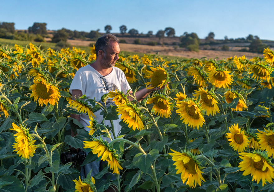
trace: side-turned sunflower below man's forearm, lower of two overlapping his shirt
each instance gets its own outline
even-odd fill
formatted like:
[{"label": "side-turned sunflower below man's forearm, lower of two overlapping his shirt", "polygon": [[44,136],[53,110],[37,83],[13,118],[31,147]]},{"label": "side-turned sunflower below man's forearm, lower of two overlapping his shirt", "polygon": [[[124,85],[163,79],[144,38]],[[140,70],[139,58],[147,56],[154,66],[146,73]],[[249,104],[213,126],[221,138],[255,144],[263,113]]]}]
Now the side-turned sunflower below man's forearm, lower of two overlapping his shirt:
[{"label": "side-turned sunflower below man's forearm, lower of two overlapping his shirt", "polygon": [[140,113],[140,110],[131,103],[121,104],[117,107],[116,111],[118,111],[118,115],[121,115],[120,119],[122,119],[128,126],[133,130],[136,128],[138,130],[144,129],[144,124],[142,122],[143,116]]}]

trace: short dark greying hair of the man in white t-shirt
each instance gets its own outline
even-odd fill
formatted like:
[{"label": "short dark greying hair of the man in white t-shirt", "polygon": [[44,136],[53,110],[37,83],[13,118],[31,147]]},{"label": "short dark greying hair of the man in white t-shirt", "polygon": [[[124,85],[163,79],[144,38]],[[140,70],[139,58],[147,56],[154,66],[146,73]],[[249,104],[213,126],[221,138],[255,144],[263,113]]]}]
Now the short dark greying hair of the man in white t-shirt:
[{"label": "short dark greying hair of the man in white t-shirt", "polygon": [[95,43],[95,53],[96,56],[98,56],[99,50],[102,50],[105,54],[104,56],[106,57],[106,49],[109,45],[109,42],[118,42],[119,39],[113,35],[113,34],[104,34],[102,37],[99,37]]}]

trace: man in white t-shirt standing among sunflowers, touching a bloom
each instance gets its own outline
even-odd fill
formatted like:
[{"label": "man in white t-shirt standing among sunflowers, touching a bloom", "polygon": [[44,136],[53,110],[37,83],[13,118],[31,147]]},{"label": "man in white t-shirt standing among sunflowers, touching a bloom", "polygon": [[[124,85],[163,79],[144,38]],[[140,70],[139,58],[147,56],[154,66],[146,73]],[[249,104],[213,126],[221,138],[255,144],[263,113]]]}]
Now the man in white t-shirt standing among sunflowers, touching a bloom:
[{"label": "man in white t-shirt standing among sunflowers, touching a bloom", "polygon": [[[128,84],[125,74],[119,68],[114,67],[115,62],[119,59],[118,54],[120,52],[118,39],[112,34],[105,34],[102,37],[97,39],[95,43],[95,52],[96,52],[96,61],[80,68],[70,85],[69,92],[72,94],[72,99],[75,100],[75,97],[78,98],[83,94],[86,95],[88,99],[93,99],[97,102],[100,101],[102,95],[107,94],[109,91],[115,91],[115,89],[120,90],[126,94],[127,90],[130,90],[130,85]],[[135,93],[135,96],[138,101],[144,99],[151,91],[157,90],[154,89],[142,89]],[[129,94],[132,94],[130,90]],[[129,97],[130,100],[132,98]],[[115,105],[111,99],[108,99],[107,107],[109,105]],[[100,115],[101,110],[94,113],[96,120],[100,123],[103,120],[103,116]],[[72,118],[77,119],[84,126],[84,129],[89,131],[87,128],[89,126],[89,117],[86,114],[82,115],[70,115]],[[121,130],[119,125],[119,120],[114,120],[114,131],[116,136]],[[110,121],[104,121],[105,125],[111,126]],[[74,135],[74,132],[71,131],[71,135]],[[111,134],[112,136],[112,134]],[[112,136],[113,138],[113,136]],[[109,138],[103,138],[110,142]],[[103,161],[91,162],[84,167],[81,167],[81,177],[86,177],[88,172],[92,168],[91,176],[96,175],[102,170],[102,165],[106,163]],[[103,176],[106,179],[106,176]],[[111,180],[115,180],[116,177],[111,174]],[[109,188],[110,189],[110,188]]]}]

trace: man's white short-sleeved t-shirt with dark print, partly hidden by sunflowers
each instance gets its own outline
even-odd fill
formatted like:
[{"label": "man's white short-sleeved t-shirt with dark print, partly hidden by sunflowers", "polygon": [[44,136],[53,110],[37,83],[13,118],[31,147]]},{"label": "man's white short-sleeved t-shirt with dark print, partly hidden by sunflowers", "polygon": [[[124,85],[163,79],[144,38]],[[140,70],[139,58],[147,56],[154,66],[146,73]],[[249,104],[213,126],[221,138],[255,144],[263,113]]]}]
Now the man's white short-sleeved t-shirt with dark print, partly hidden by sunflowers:
[{"label": "man's white short-sleeved t-shirt with dark print, partly hidden by sunflowers", "polygon": [[[102,77],[102,78],[100,78]],[[105,82],[106,83],[105,83]],[[82,91],[83,95],[86,95],[88,99],[93,99],[97,102],[101,102],[104,106],[103,102],[101,101],[102,95],[108,93],[109,91],[115,91],[115,89],[120,90],[124,93],[127,92],[127,90],[131,89],[129,83],[127,82],[125,78],[125,74],[122,70],[120,70],[117,67],[112,67],[112,71],[110,74],[103,76],[98,71],[96,71],[92,66],[87,65],[84,67],[81,67],[76,72],[70,88],[69,92],[72,94],[73,89],[79,89]],[[87,100],[87,99],[85,99]],[[114,102],[111,99],[108,99],[106,101],[106,107],[109,107],[110,105],[115,105]],[[101,123],[103,120],[103,116],[100,115],[100,112],[102,110],[99,110],[94,113],[96,116],[96,120],[98,123]],[[80,115],[80,123],[84,126],[84,129],[89,131],[90,129],[87,128],[89,126],[89,117],[88,115],[82,114]],[[121,115],[119,115],[120,118]],[[114,125],[114,131],[115,135],[117,137],[118,133],[121,130],[121,126],[119,125],[119,122],[121,120],[113,120]],[[111,126],[111,123],[109,120],[104,121],[105,125]],[[113,135],[111,134],[111,137],[113,138]],[[103,138],[110,142],[109,138]]]}]

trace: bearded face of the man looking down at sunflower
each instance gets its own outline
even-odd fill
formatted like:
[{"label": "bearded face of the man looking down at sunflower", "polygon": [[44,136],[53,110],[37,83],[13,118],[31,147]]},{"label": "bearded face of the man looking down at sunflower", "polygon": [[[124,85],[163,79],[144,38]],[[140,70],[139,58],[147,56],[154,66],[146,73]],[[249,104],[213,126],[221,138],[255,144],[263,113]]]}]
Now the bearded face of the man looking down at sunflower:
[{"label": "bearded face of the man looking down at sunflower", "polygon": [[115,62],[119,59],[118,54],[120,53],[120,47],[117,42],[111,41],[101,60],[101,66],[105,69],[113,67]]}]

